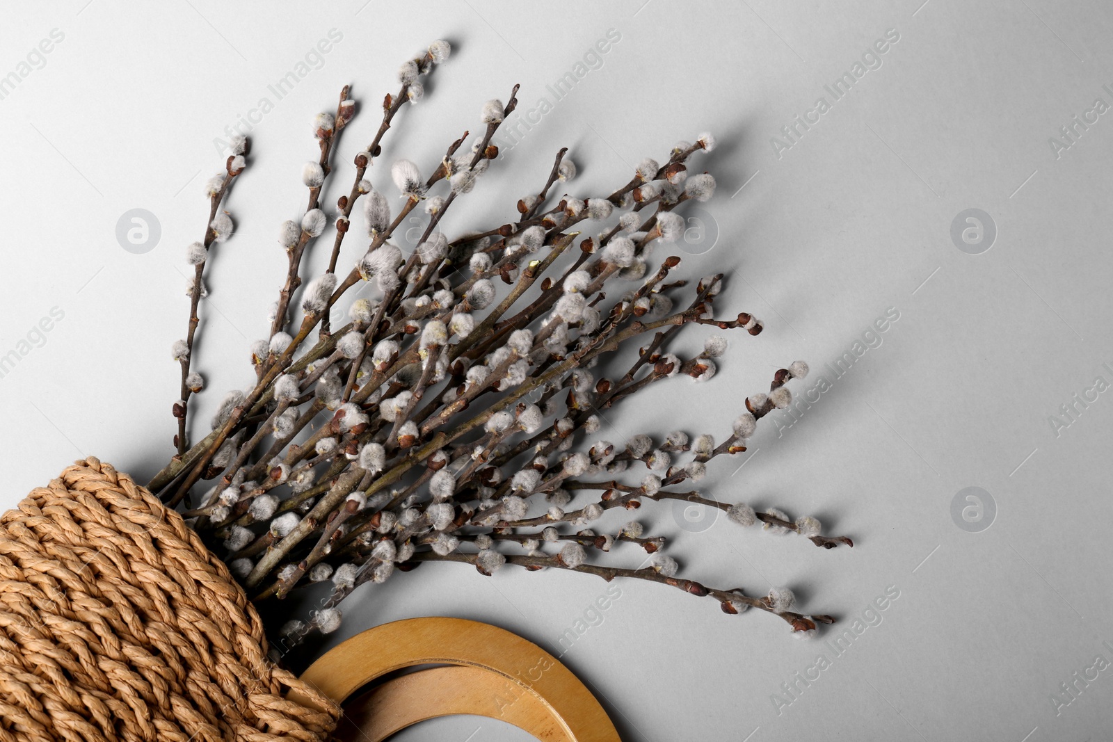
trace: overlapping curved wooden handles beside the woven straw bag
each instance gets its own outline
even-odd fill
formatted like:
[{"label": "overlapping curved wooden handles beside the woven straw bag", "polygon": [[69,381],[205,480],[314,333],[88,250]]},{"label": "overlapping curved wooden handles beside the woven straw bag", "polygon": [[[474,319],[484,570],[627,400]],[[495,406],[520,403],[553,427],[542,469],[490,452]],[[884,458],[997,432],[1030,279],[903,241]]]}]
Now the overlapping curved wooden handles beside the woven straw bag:
[{"label": "overlapping curved wooden handles beside the woven straw bag", "polygon": [[477,621],[407,619],[370,629],[326,652],[302,680],[344,703],[387,673],[424,664],[454,666],[378,685],[345,709],[342,726],[355,723],[359,739],[381,742],[426,719],[466,713],[500,719],[543,740],[621,742],[595,696],[556,657]]}]

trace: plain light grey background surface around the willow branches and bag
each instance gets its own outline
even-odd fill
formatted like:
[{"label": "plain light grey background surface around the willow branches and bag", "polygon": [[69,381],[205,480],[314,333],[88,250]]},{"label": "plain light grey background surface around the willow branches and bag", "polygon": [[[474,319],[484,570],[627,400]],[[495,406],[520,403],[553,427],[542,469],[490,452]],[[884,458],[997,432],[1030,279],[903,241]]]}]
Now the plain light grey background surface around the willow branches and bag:
[{"label": "plain light grey background surface around the willow branches and bag", "polygon": [[[805,610],[839,616],[835,629],[886,588],[899,591],[881,623],[836,656],[824,642],[833,630],[796,642],[767,615],[727,616],[710,601],[622,584],[603,622],[563,660],[623,739],[1104,739],[1113,670],[1068,705],[1056,709],[1052,696],[1096,655],[1113,660],[1113,397],[1077,404],[1081,414],[1061,417],[1058,429],[1051,418],[1095,377],[1113,383],[1103,366],[1113,367],[1113,113],[1076,127],[1070,148],[1056,152],[1050,139],[1067,144],[1060,128],[1095,99],[1113,105],[1103,89],[1113,88],[1113,10],[920,2],[9,4],[0,75],[21,69],[52,29],[63,39],[0,100],[0,355],[29,347],[0,378],[0,504],[79,456],[145,479],[170,455],[178,370],[169,345],[185,327],[183,256],[204,227],[201,185],[223,161],[213,140],[268,97],[274,109],[250,132],[252,166],[228,204],[237,235],[210,267],[197,349],[210,388],[250,380],[248,342],[265,333],[285,271],[276,227],[302,208],[301,165],[315,157],[311,117],[353,85],[364,108],[335,158],[346,182],[352,156],[377,127],[378,101],[396,88],[397,65],[443,37],[453,58],[400,117],[384,162],[403,154],[435,161],[463,129],[479,130],[480,105],[504,99],[514,82],[519,115],[541,98],[553,103],[520,142],[501,142],[505,161],[470,197],[467,219],[446,220],[450,234],[505,218],[561,146],[581,169],[575,192],[595,192],[678,139],[702,130],[719,138],[696,160],[719,179],[719,194],[692,222],[689,251],[708,247],[700,228],[718,239],[686,267],[732,271],[722,311],[750,310],[766,332],[733,336],[711,383],[674,379],[640,406],[615,408],[613,437],[663,432],[662,419],[721,436],[741,396],[796,358],[831,380],[799,422],[789,427],[787,413],[772,416],[779,425],[762,422],[751,453],[712,467],[702,484],[720,499],[815,514],[855,548],[820,551],[725,520],[696,534],[681,528],[683,514],[643,509],[652,531],[676,536],[669,551],[684,574],[754,591],[788,584]],[[329,29],[343,39],[277,100],[267,86]],[[621,40],[554,102],[546,86],[609,29]],[[899,40],[878,55],[880,67],[834,101],[824,86],[889,29]],[[830,110],[795,142],[782,139],[790,147],[775,147],[781,127],[824,96]],[[146,254],[116,238],[134,208],[160,225]],[[979,255],[951,236],[971,208],[997,231]],[[317,269],[325,253],[314,250]],[[899,319],[880,345],[839,378],[824,368],[889,308]],[[52,309],[63,318],[40,338],[32,328]],[[699,337],[687,342],[696,347]],[[952,517],[953,498],[969,486],[996,507],[992,527],[977,533]],[[629,552],[614,556],[637,563]],[[505,570],[484,578],[426,565],[358,595],[347,611],[356,619],[335,640],[444,614],[559,652],[562,632],[603,588],[580,575]],[[820,653],[830,666],[778,709],[771,696],[781,683]],[[523,735],[463,718],[402,738]]]}]

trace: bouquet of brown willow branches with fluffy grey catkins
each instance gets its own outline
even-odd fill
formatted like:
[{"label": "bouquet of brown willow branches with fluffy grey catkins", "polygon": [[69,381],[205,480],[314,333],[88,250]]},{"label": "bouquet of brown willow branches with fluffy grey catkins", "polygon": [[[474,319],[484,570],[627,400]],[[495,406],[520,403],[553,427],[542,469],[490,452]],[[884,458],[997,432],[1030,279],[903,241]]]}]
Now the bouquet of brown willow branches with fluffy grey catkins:
[{"label": "bouquet of brown willow branches with fluffy grey catkins", "polygon": [[[305,212],[279,228],[289,264],[270,309],[269,337],[252,346],[256,378],[225,396],[213,432],[190,446],[190,399],[204,386],[193,367],[204,274],[214,248],[233,234],[221,207],[249,154],[246,139],[230,142],[225,171],[207,184],[204,240],[187,248],[195,268],[189,325],[173,348],[181,366],[177,455],[149,487],[185,509],[256,602],[332,583],[319,610],[278,630],[286,645],[335,631],[339,603],[358,585],[382,583],[424,561],[464,562],[484,575],[511,564],[648,580],[710,596],[727,613],[771,613],[804,636],[817,622],[833,622],[797,612],[788,588],[751,595],[677,576],[677,562],[661,553],[664,538],[644,533],[637,521],[614,533],[589,527],[612,508],[683,499],[722,508],[741,526],[760,523],[827,548],[853,545],[821,535],[814,517],[757,513],[678,488],[702,478],[711,459],[746,451],[757,422],[789,405],[786,384],[807,374],[802,362],[778,370],[768,393],[740,399],[745,409],[721,443],[681,432],[657,441],[637,435],[626,445],[594,437],[599,410],[650,384],[715,375],[726,340],[709,337],[702,353],[680,358],[668,346],[683,326],[761,332],[746,313],[715,317],[721,275],[691,286],[673,276],[678,257],[651,261],[653,248],[684,228],[677,208],[712,196],[715,179],[690,174],[689,160],[711,150],[713,138],[678,144],[663,164],[647,158],[617,190],[587,198],[552,195],[575,175],[562,149],[540,190],[518,201],[516,221],[450,239],[437,226],[496,161],[492,137],[514,110],[516,86],[505,105],[483,105],[482,136],[465,146],[464,132],[449,144],[427,178],[414,162],[395,159],[393,184],[366,179],[398,111],[422,98],[422,79],[449,53],[449,43],[436,41],[402,66],[402,87],[384,99],[382,122],[356,155],[351,189],[334,214],[321,198],[332,174],[329,155],[356,112],[348,88],[335,113],[314,119],[319,155],[303,170]],[[387,197],[392,189],[401,192],[401,207],[392,207],[398,202]],[[370,244],[361,240],[355,267],[337,273],[361,200]],[[392,236],[418,207],[430,215],[429,226],[407,257]],[[329,221],[328,269],[303,288],[303,258]],[[585,236],[588,229],[598,231]],[[364,281],[380,298],[353,301],[348,324],[333,327],[334,307]],[[510,288],[500,290],[500,284]],[[301,319],[292,323],[299,289]],[[687,304],[678,308],[673,297],[682,294]],[[631,343],[640,344],[638,357],[620,376],[592,372]],[[203,479],[215,486],[193,496]],[[651,566],[597,563],[620,544],[653,554]]]}]

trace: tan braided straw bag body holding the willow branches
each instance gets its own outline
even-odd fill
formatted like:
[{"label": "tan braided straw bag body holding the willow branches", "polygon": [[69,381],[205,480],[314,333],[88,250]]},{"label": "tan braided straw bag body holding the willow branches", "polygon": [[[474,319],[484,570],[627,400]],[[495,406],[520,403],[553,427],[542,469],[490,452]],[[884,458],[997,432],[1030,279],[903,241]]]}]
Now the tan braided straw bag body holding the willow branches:
[{"label": "tan braided straw bag body holding the willow branches", "polygon": [[90,457],[0,517],[0,742],[317,742],[338,718],[267,659],[224,563],[126,474]]}]

